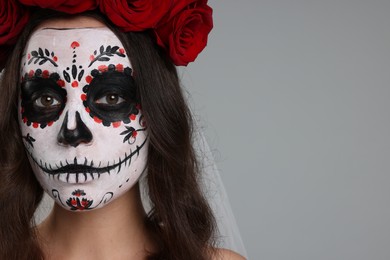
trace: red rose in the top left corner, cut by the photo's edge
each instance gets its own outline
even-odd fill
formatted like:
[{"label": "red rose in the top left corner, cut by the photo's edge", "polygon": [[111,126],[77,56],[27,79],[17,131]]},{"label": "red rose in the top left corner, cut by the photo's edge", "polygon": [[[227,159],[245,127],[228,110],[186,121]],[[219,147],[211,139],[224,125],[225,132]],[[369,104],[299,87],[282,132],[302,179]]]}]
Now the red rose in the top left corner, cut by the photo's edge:
[{"label": "red rose in the top left corner, cut by the photo's edge", "polygon": [[0,0],[0,45],[14,44],[29,18],[16,0]]}]

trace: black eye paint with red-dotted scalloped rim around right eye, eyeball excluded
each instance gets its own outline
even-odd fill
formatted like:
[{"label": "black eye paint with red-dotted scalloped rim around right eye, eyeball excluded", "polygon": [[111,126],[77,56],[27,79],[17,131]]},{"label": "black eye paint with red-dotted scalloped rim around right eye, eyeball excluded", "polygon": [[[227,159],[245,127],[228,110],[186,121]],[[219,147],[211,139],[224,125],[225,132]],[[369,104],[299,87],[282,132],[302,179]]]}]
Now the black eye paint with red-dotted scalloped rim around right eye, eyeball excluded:
[{"label": "black eye paint with red-dotted scalloped rim around right eye, eyeball excluded", "polygon": [[[129,67],[122,64],[101,65],[86,76],[87,85],[81,95],[86,111],[96,123],[104,126],[119,127],[121,123],[130,123],[139,114],[136,86]],[[114,95],[122,99],[116,104],[98,102],[104,97]]]}]

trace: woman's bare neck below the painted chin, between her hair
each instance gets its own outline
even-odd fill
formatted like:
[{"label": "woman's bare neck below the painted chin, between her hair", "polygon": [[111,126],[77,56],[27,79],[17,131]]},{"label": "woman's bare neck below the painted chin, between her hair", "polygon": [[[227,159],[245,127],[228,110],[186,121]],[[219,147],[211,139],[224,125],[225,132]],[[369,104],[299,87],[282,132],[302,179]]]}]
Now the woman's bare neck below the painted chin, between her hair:
[{"label": "woman's bare neck below the painted chin, between her hair", "polygon": [[55,204],[38,233],[48,259],[144,259],[153,250],[138,185],[93,211]]}]

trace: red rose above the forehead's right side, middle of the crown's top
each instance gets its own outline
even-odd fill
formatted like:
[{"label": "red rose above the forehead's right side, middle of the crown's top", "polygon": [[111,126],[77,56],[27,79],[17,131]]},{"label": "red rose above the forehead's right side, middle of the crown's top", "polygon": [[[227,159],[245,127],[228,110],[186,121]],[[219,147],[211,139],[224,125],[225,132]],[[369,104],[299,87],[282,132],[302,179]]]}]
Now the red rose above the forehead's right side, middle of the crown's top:
[{"label": "red rose above the forehead's right side, middle of the crown's top", "polygon": [[172,0],[98,1],[100,10],[126,32],[154,28],[172,5]]}]

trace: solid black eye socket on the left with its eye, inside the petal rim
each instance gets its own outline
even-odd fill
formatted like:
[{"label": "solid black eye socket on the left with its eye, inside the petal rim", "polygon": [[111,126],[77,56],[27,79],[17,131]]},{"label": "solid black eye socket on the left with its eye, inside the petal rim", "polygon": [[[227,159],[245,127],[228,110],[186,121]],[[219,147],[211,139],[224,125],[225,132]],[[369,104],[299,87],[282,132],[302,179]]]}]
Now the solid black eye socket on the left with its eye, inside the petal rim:
[{"label": "solid black eye socket on the left with its eye, inside the petal rim", "polygon": [[45,126],[56,121],[66,102],[66,90],[53,78],[32,78],[22,83],[22,117],[28,124]]}]

